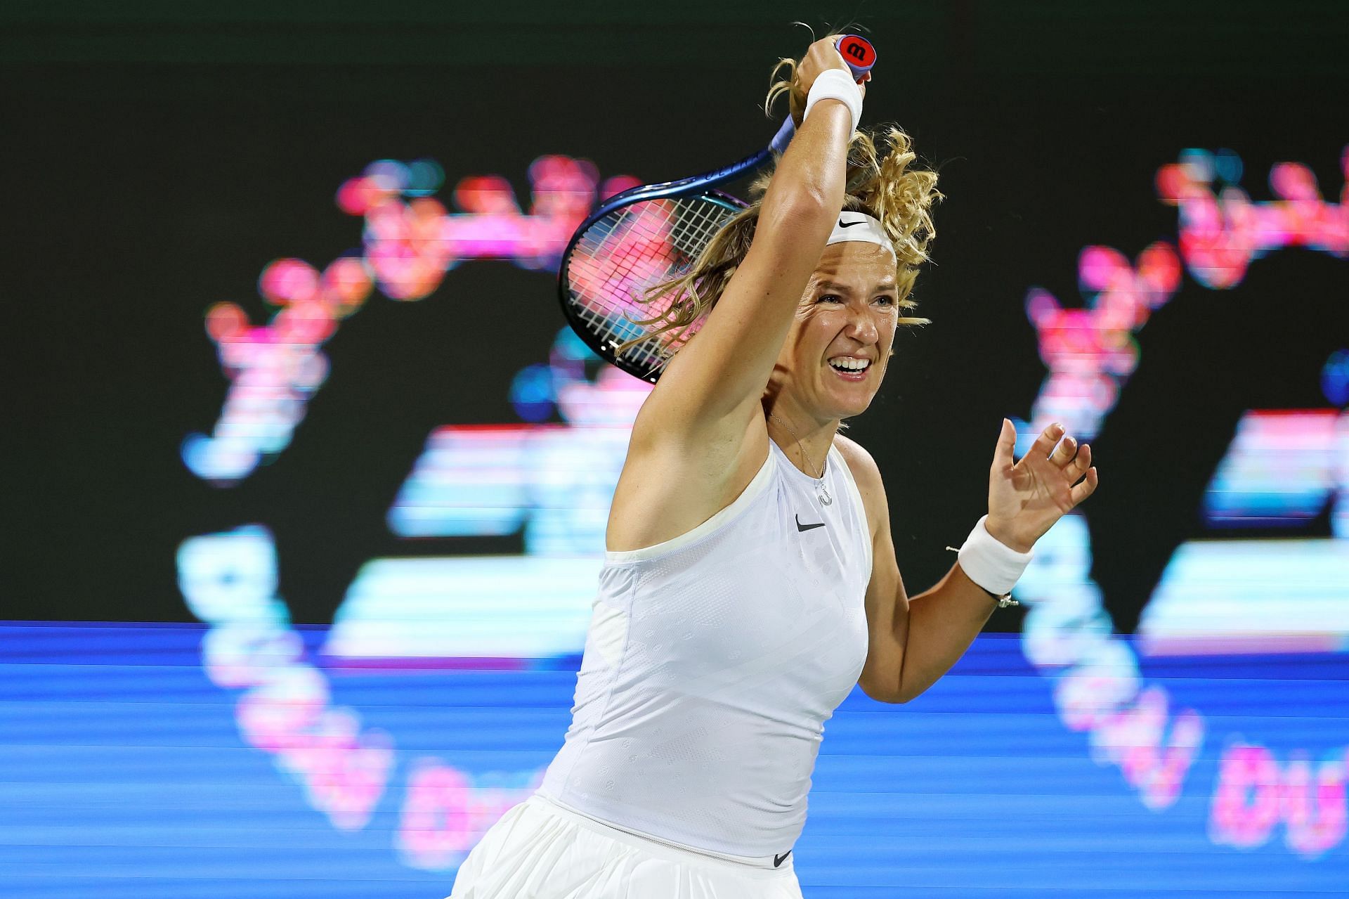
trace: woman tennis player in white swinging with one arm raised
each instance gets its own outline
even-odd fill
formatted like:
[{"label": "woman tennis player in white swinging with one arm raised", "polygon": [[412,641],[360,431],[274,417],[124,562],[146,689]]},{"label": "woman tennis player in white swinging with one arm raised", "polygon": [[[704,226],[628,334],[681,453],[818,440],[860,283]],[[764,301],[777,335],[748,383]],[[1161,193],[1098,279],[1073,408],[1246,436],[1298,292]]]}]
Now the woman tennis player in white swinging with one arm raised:
[{"label": "woman tennis player in white swinging with one arm raised", "polygon": [[898,130],[884,158],[857,134],[863,88],[834,36],[789,67],[796,138],[666,285],[691,297],[669,327],[711,313],[633,427],[565,745],[453,899],[800,899],[823,722],[854,683],[882,702],[932,686],[1095,490],[1089,445],[1052,425],[1014,463],[1004,420],[987,516],[905,594],[881,475],[838,429],[897,327],[924,321],[900,310],[936,175]]}]

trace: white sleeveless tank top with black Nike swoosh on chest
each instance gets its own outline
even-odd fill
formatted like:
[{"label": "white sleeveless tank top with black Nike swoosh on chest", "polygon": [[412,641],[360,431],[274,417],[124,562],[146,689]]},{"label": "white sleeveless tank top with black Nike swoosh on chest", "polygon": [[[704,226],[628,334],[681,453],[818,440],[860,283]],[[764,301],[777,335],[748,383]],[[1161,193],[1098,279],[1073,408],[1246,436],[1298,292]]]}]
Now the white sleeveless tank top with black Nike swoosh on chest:
[{"label": "white sleeveless tank top with black Nike swoosh on chest", "polygon": [[824,721],[867,648],[870,530],[832,447],[824,483],[831,505],[769,440],[731,505],[606,553],[572,726],[538,792],[708,852],[792,848]]}]

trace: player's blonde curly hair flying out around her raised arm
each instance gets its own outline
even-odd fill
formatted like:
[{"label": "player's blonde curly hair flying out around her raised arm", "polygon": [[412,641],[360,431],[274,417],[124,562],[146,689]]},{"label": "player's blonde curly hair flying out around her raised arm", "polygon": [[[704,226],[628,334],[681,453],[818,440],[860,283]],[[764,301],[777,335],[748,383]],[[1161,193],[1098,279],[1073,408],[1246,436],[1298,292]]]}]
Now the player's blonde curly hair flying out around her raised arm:
[{"label": "player's blonde curly hair flying out around her raised arm", "polygon": [[[805,109],[805,93],[796,80],[797,61],[780,59],[770,76],[772,86],[764,101],[764,112],[772,116],[773,101],[788,96],[792,119],[800,124]],[[884,153],[876,136],[867,131],[854,131],[849,140],[847,182],[843,211],[865,212],[877,219],[894,243],[897,256],[896,289],[900,309],[898,324],[929,324],[931,319],[902,315],[917,304],[909,297],[917,278],[919,266],[928,262],[928,244],[936,236],[932,224],[932,205],[943,198],[936,189],[936,173],[912,167],[917,155],[912,140],[900,128],[884,128]],[[657,325],[641,337],[625,342],[627,347],[656,340],[666,352],[673,352],[692,336],[695,325],[712,310],[726,285],[745,261],[754,240],[764,194],[773,180],[773,167],[750,185],[750,205],[737,212],[703,247],[697,259],[676,277],[649,286],[641,302],[656,306],[668,298],[668,305],[656,316],[634,324]]]}]

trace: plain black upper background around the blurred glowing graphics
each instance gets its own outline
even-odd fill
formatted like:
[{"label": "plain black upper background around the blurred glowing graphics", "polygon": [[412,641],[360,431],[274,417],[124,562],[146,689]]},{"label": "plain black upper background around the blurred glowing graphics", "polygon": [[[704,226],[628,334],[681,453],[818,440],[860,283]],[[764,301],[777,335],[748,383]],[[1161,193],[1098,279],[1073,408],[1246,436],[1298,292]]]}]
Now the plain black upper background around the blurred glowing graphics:
[{"label": "plain black upper background around the blurred glowing graphics", "polygon": [[[0,8],[5,266],[0,618],[190,620],[174,552],[263,522],[297,622],[324,622],[367,559],[480,552],[403,541],[384,512],[428,432],[517,421],[511,375],[561,327],[552,277],[464,262],[420,302],[375,293],[325,347],[291,445],[236,487],[178,448],[227,381],[202,316],[266,310],[262,267],[320,269],[360,242],[336,188],[379,158],[525,177],[541,154],[643,181],[715,167],[773,132],[757,104],[793,20],[858,20],[880,65],[865,121],[940,169],[928,328],[897,342],[850,435],[885,475],[911,593],[983,512],[1002,416],[1045,374],[1023,301],[1078,305],[1077,255],[1175,239],[1153,190],[1186,147],[1230,147],[1252,198],[1282,161],[1338,196],[1349,143],[1342,3],[796,4],[9,3]],[[1139,335],[1141,363],[1093,451],[1095,575],[1132,629],[1248,408],[1323,406],[1349,344],[1344,261],[1257,261],[1233,290],[1188,277]],[[1325,521],[1307,536],[1326,536]],[[994,617],[1016,629],[1018,611]]]}]

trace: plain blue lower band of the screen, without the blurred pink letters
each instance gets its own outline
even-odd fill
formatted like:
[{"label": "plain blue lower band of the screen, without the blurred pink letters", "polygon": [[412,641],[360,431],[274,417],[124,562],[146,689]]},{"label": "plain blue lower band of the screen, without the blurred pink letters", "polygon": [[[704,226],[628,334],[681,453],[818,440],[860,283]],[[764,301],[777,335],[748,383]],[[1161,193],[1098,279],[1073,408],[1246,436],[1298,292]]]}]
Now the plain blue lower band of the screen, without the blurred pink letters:
[{"label": "plain blue lower band of the screen, without the blurred pink letters", "polygon": [[[297,633],[317,655],[324,632]],[[320,661],[332,702],[360,709],[397,746],[368,821],[343,830],[241,738],[237,692],[202,670],[204,636],[196,625],[0,628],[0,895],[444,896],[461,852],[409,852],[411,782],[438,764],[479,794],[523,795],[568,724],[575,657],[517,671]],[[1344,653],[1149,665],[1179,701],[1276,753],[1349,726]],[[1267,714],[1273,697],[1288,703],[1282,717]],[[1059,724],[1017,638],[989,634],[907,706],[857,691],[844,701],[827,725],[797,872],[811,899],[1349,884],[1342,846],[1309,864],[1282,840],[1207,840],[1222,751],[1205,746],[1179,800],[1149,811]]]}]

